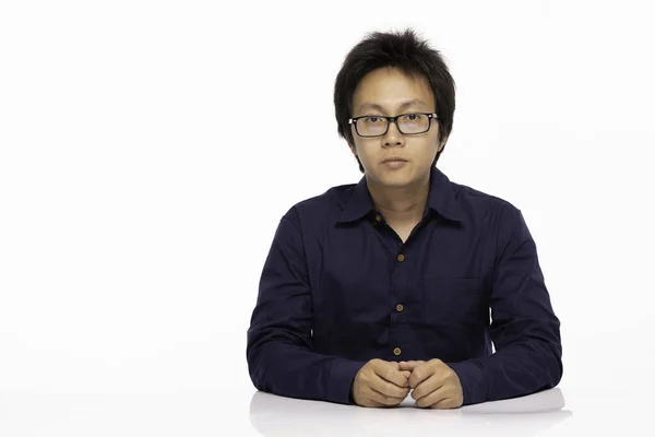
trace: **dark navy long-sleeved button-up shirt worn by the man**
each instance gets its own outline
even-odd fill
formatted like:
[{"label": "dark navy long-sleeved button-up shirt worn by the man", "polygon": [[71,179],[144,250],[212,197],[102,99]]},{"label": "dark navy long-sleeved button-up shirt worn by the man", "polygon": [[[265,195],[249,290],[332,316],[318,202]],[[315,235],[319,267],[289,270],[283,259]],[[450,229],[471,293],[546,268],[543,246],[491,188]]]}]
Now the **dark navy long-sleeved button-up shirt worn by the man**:
[{"label": "dark navy long-sleeved button-up shirt worn by the man", "polygon": [[[496,351],[492,350],[492,343]],[[464,405],[549,389],[562,376],[556,317],[521,211],[437,167],[405,243],[362,177],[282,217],[248,330],[254,387],[352,403],[372,358],[439,358]]]}]

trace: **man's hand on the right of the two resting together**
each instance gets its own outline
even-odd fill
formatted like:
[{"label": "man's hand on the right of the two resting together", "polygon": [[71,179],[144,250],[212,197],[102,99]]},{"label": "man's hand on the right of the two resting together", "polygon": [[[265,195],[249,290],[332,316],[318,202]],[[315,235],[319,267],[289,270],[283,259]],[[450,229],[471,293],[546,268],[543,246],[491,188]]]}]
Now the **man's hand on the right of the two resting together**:
[{"label": "man's hand on the right of the two resting together", "polygon": [[464,392],[457,374],[441,359],[401,362],[400,369],[412,371],[409,387],[416,406],[457,409],[464,403]]}]

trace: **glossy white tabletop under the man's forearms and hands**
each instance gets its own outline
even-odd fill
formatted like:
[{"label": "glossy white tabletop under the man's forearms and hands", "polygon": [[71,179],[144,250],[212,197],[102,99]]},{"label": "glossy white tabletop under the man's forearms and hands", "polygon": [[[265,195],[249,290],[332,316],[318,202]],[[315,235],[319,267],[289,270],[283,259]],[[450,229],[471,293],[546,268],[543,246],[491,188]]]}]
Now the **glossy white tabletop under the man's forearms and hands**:
[{"label": "glossy white tabletop under the man's forearms and hands", "polygon": [[[645,386],[556,388],[457,410],[365,409],[233,385],[172,393],[0,391],[0,437],[655,436]],[[569,391],[571,393],[569,393]],[[564,402],[564,393],[567,399]]]}]

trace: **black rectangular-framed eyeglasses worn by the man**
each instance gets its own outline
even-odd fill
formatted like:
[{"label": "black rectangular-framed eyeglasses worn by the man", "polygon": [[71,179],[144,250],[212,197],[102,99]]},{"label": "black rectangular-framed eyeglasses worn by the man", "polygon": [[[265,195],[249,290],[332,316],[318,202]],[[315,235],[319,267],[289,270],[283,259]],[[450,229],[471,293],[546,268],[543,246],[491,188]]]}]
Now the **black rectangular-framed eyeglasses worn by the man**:
[{"label": "black rectangular-framed eyeglasses worn by the man", "polygon": [[431,119],[438,120],[437,114],[410,113],[401,114],[395,117],[361,116],[348,119],[348,125],[355,125],[355,131],[359,137],[382,137],[389,131],[389,122],[395,123],[398,132],[407,135],[425,133],[430,130]]}]

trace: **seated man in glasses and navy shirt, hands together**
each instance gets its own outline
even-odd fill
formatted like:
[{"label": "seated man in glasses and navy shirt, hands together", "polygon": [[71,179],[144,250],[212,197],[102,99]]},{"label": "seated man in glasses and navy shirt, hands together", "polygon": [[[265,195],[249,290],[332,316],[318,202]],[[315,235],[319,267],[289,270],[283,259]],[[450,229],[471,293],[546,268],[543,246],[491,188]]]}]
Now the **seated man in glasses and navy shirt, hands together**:
[{"label": "seated man in glasses and navy shirt, hands together", "polygon": [[455,109],[440,54],[412,31],[373,33],[334,104],[364,177],[282,217],[248,330],[254,386],[436,409],[557,386],[560,321],[521,211],[436,167]]}]

